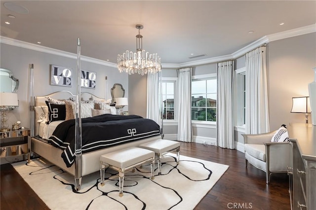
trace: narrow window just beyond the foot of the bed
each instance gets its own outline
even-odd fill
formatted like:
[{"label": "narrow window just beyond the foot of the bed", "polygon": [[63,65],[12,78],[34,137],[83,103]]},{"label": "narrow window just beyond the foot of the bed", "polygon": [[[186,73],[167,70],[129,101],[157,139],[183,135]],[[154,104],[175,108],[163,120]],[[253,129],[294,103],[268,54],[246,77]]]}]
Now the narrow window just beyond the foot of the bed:
[{"label": "narrow window just beyond the foot of the bed", "polygon": [[175,119],[175,100],[174,100],[174,91],[176,80],[164,80],[162,78],[162,104],[163,104],[163,119],[174,120]]}]

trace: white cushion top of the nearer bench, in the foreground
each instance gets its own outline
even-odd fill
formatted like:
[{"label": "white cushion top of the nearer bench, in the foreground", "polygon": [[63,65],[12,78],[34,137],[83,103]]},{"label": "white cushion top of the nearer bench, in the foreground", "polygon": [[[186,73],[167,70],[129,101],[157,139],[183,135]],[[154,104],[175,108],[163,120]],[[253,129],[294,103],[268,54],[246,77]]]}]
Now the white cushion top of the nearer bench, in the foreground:
[{"label": "white cushion top of the nearer bench, in the foreground", "polygon": [[100,161],[117,168],[127,168],[155,157],[155,152],[139,147],[130,147],[101,155]]}]

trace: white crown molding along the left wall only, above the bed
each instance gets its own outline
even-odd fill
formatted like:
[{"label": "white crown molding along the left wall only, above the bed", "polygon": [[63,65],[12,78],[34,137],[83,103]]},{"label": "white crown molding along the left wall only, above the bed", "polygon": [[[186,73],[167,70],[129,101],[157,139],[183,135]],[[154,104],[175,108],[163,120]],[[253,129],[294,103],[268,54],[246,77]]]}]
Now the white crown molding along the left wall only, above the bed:
[{"label": "white crown molding along the left wall only, above the bed", "polygon": [[[5,36],[0,36],[0,42],[3,44],[9,44],[9,45],[13,45],[16,47],[22,47],[22,48],[26,48],[26,49],[30,49],[30,50],[49,53],[52,55],[58,55],[58,56],[66,57],[66,58],[77,59],[77,54],[75,54],[75,53],[70,53],[70,52],[66,52],[66,51],[62,51],[62,50],[44,47],[44,46],[40,46],[38,44],[33,44],[33,43],[29,43],[29,42],[25,42],[25,41],[13,39],[13,38],[8,38]],[[117,68],[117,64],[110,63],[107,61],[102,61],[102,60],[95,59],[95,58],[90,58],[87,56],[80,56],[80,60],[94,63],[94,64],[100,64],[103,66]]]}]

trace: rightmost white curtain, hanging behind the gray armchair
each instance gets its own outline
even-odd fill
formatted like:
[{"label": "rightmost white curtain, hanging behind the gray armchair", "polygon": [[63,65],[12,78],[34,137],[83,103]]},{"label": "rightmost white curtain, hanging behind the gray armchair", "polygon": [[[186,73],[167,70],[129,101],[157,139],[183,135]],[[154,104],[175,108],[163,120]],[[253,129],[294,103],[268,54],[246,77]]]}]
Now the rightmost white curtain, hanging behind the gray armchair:
[{"label": "rightmost white curtain, hanging behind the gray armchair", "polygon": [[246,57],[246,134],[270,132],[266,47],[254,49]]}]

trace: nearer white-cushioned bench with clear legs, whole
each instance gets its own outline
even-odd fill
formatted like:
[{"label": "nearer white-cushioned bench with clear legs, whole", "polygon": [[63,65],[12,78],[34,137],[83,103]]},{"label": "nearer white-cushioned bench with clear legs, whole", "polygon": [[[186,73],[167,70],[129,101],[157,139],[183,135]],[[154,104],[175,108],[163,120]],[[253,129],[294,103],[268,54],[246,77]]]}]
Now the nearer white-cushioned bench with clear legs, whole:
[{"label": "nearer white-cushioned bench with clear legs, whole", "polygon": [[110,152],[100,157],[101,186],[104,185],[106,166],[118,172],[119,197],[123,196],[124,173],[129,169],[151,162],[151,179],[154,179],[155,152],[139,147],[130,147]]}]

